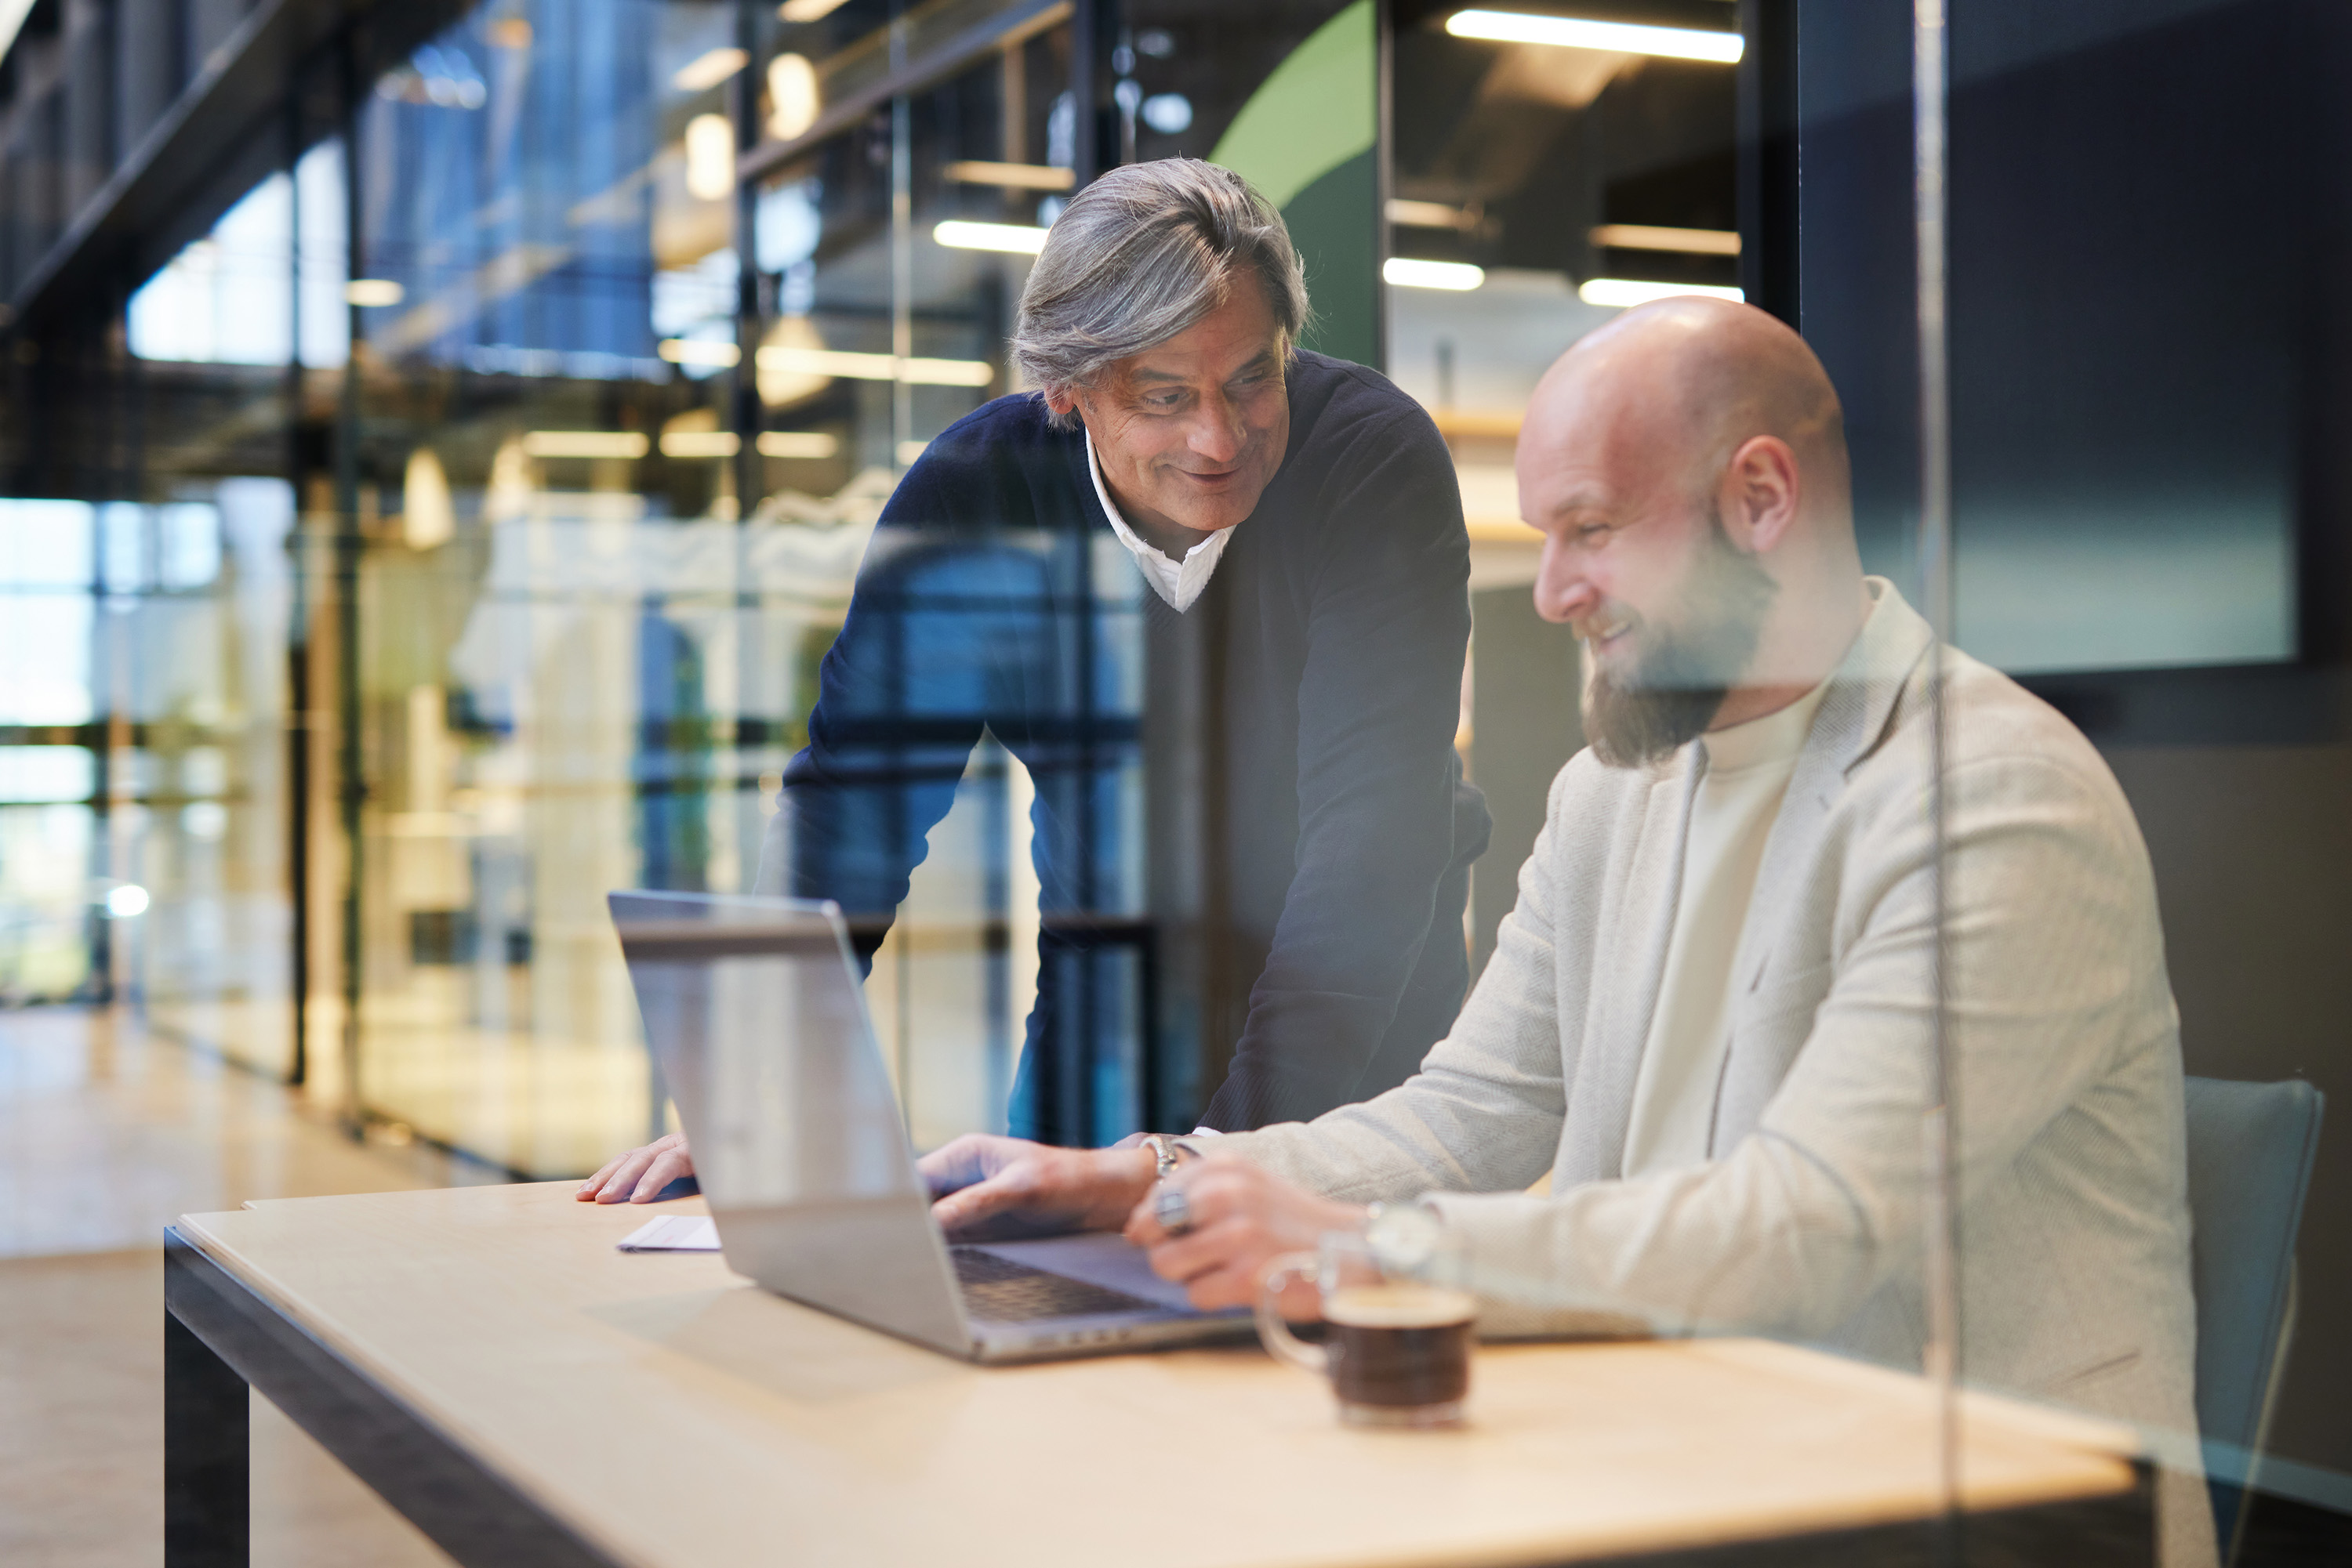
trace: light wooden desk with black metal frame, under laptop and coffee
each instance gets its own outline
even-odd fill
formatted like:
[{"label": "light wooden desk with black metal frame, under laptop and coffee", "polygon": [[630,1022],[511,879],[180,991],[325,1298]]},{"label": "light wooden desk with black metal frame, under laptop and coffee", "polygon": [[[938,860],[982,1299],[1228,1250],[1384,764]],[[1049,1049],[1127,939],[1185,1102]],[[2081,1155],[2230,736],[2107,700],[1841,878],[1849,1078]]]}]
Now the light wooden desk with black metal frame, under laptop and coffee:
[{"label": "light wooden desk with black metal frame, under laptop and coffee", "polygon": [[[1924,1561],[1915,1378],[1759,1340],[1496,1347],[1468,1429],[1357,1432],[1256,1349],[964,1366],[710,1253],[616,1253],[647,1218],[569,1182],[183,1218],[172,1568],[245,1561],[247,1382],[499,1568]],[[2124,1432],[1976,1399],[1964,1483],[1971,1542],[2152,1561]]]}]

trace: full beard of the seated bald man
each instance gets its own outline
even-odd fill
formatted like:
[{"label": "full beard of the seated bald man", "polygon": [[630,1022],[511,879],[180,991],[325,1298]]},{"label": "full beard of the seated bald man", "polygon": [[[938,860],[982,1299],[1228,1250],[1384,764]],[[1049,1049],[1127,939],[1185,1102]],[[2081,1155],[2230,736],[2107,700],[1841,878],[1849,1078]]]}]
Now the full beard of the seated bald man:
[{"label": "full beard of the seated bald man", "polygon": [[1649,654],[1621,684],[1595,668],[1585,679],[1585,741],[1613,769],[1637,769],[1675,755],[1708,733],[1731,684],[1755,658],[1778,583],[1731,548],[1724,520],[1691,564],[1679,628],[1651,630]]}]

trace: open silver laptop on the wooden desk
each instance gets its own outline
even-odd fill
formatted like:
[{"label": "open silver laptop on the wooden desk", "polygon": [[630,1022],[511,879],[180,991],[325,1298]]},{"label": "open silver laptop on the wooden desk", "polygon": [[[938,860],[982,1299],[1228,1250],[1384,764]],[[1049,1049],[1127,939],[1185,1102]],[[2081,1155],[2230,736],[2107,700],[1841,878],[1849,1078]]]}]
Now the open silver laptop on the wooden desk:
[{"label": "open silver laptop on the wooden desk", "polygon": [[971,1361],[1249,1333],[1117,1234],[950,1246],[931,1218],[830,903],[612,893],[644,1039],[727,1267]]}]

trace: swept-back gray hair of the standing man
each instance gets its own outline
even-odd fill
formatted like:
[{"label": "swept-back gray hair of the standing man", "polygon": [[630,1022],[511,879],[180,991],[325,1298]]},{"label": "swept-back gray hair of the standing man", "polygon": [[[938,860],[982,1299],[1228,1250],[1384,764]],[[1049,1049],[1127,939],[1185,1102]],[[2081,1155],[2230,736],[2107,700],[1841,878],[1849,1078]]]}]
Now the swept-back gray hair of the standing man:
[{"label": "swept-back gray hair of the standing man", "polygon": [[1232,169],[1197,158],[1110,169],[1070,197],[1047,233],[1021,289],[1014,362],[1044,393],[1084,386],[1112,360],[1167,343],[1223,306],[1240,270],[1265,287],[1287,355],[1310,313],[1275,205]]}]

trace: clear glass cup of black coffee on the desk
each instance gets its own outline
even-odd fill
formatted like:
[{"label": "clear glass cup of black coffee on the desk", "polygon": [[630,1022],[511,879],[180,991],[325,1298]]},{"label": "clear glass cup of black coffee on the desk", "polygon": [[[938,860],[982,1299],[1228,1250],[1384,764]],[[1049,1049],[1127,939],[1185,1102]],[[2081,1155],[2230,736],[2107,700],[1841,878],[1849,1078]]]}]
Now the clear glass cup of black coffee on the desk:
[{"label": "clear glass cup of black coffee on the desk", "polygon": [[[1432,1279],[1458,1279],[1444,1258]],[[1322,1345],[1282,1319],[1282,1291],[1315,1281]],[[1477,1298],[1449,1284],[1390,1274],[1357,1232],[1327,1232],[1312,1253],[1275,1258],[1258,1286],[1258,1338],[1277,1361],[1331,1380],[1350,1427],[1458,1427],[1470,1399]]]}]

